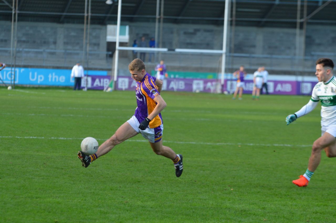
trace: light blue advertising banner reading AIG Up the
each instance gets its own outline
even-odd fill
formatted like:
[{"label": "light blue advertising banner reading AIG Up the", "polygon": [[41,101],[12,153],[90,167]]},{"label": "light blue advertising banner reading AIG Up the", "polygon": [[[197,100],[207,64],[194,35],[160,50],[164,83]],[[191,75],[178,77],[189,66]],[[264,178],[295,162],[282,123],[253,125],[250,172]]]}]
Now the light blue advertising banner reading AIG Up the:
[{"label": "light blue advertising banner reading AIG Up the", "polygon": [[[10,67],[0,71],[0,77],[6,84],[10,84],[11,75],[14,78],[14,70]],[[86,72],[85,72],[86,74]],[[107,76],[107,71],[89,70],[90,76]],[[71,78],[71,69],[45,69],[45,68],[15,68],[15,85],[44,85],[44,86],[73,86],[74,78]]]}]

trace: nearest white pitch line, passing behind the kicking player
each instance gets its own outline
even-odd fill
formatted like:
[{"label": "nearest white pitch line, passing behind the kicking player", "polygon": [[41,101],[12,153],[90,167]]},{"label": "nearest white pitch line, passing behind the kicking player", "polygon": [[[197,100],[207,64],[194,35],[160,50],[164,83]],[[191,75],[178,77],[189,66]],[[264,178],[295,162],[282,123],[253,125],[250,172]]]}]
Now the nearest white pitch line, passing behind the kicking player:
[{"label": "nearest white pitch line, passing behind the kicking player", "polygon": [[[0,138],[23,138],[23,139],[43,139],[43,140],[83,140],[83,138],[66,138],[66,137],[43,137],[43,136],[0,136]],[[99,141],[106,141],[107,138],[96,138]],[[127,140],[128,142],[148,142],[147,140]],[[205,142],[175,142],[164,141],[165,143],[176,144],[198,144],[209,146],[267,146],[267,147],[311,147],[311,145],[291,145],[291,144],[258,144],[258,143],[205,143]]]}]

